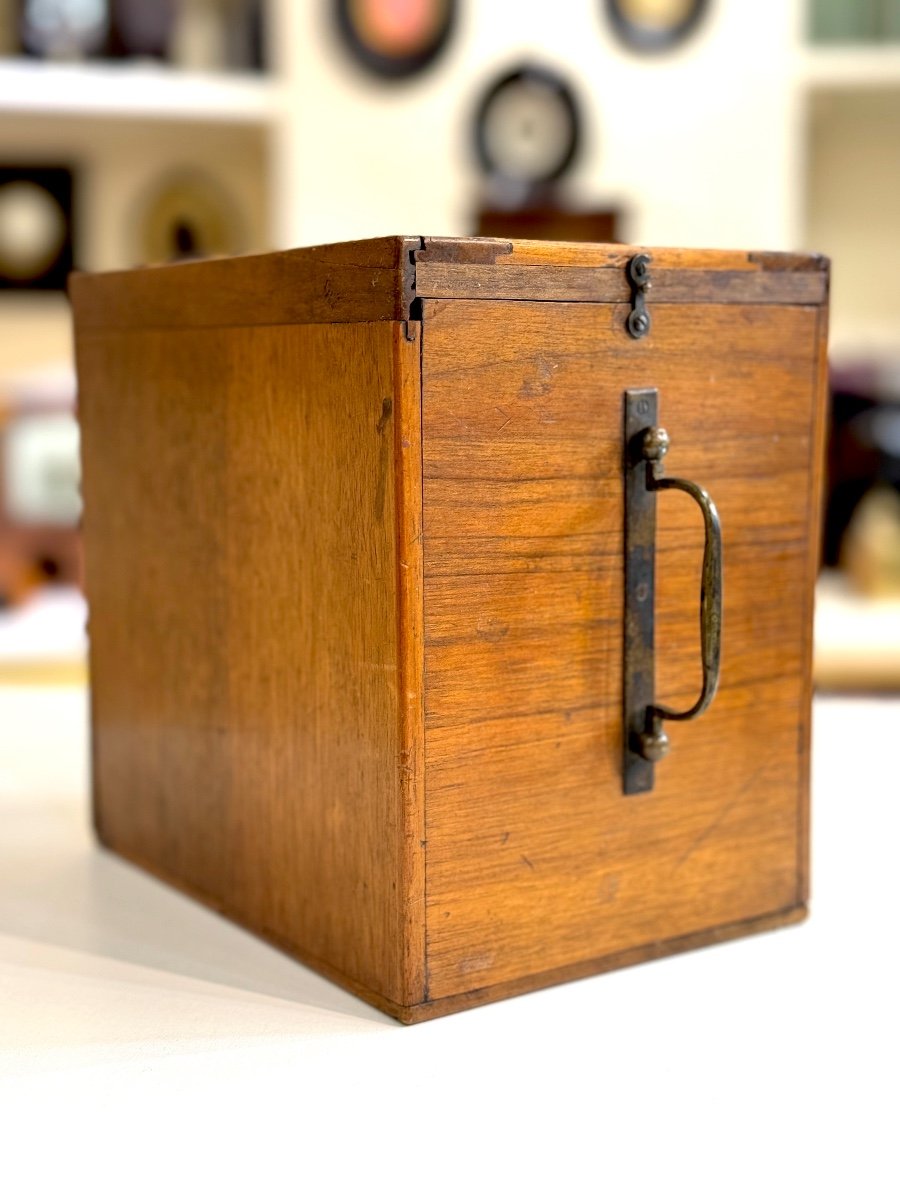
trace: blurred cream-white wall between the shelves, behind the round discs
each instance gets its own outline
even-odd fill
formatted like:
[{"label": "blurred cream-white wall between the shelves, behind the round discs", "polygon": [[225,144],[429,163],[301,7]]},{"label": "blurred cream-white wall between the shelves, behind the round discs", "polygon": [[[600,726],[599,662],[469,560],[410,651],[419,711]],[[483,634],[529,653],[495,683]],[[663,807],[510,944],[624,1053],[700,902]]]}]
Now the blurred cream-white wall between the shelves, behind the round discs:
[{"label": "blurred cream-white wall between the shelves, behind the round discs", "polygon": [[276,0],[274,46],[294,118],[282,133],[276,240],[470,233],[473,107],[499,71],[535,60],[559,68],[583,101],[588,145],[572,197],[622,205],[626,238],[790,247],[799,5],[710,0],[683,48],[644,56],[618,43],[600,0],[461,0],[445,54],[390,84],[349,59],[326,0]]}]

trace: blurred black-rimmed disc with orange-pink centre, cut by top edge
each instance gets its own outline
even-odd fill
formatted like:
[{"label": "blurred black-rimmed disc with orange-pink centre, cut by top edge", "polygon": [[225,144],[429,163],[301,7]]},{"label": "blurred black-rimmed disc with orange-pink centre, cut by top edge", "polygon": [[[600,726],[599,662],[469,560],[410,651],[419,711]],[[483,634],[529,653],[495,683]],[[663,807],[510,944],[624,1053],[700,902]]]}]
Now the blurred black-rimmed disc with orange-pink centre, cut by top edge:
[{"label": "blurred black-rimmed disc with orange-pink centre, cut by top edge", "polygon": [[456,0],[334,0],[341,38],[353,58],[383,79],[428,67],[454,28]]}]

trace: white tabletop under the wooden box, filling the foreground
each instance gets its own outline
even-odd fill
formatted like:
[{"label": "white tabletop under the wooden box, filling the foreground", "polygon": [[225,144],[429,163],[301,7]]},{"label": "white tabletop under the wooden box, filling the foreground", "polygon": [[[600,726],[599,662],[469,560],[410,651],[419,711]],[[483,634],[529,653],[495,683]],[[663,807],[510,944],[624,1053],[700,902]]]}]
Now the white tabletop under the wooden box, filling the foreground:
[{"label": "white tabletop under the wooden box, filling the foreground", "polygon": [[0,1195],[900,1196],[899,745],[817,702],[806,924],[403,1028],[98,850],[84,694],[0,689]]}]

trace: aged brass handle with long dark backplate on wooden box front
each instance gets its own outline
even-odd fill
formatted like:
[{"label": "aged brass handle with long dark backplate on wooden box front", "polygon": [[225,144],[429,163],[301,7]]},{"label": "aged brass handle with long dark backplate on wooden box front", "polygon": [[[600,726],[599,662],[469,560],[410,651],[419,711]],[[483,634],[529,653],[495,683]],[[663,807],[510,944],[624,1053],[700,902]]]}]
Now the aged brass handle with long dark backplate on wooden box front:
[{"label": "aged brass handle with long dark backplate on wooden box front", "polygon": [[[689,721],[704,713],[719,686],[722,628],[722,534],[709,493],[689,479],[662,474],[668,434],[656,426],[658,394],[625,394],[625,792],[653,787],[653,763],[668,752],[662,721]],[[649,425],[647,424],[649,419]],[[655,493],[686,492],[703,514],[704,548],[700,588],[700,653],[703,682],[690,708],[676,712],[654,701],[653,634]]]}]

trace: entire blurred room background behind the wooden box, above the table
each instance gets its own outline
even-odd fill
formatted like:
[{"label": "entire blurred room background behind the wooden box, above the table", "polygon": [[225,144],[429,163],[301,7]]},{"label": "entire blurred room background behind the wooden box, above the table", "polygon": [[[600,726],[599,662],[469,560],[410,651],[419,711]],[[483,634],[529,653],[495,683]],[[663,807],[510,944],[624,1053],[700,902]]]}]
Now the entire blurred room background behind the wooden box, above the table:
[{"label": "entire blurred room background behind the wooden box, above the table", "polygon": [[0,0],[0,684],[85,678],[67,272],[388,233],[829,254],[816,676],[900,689],[900,0]]}]

